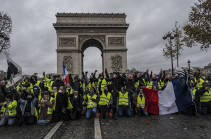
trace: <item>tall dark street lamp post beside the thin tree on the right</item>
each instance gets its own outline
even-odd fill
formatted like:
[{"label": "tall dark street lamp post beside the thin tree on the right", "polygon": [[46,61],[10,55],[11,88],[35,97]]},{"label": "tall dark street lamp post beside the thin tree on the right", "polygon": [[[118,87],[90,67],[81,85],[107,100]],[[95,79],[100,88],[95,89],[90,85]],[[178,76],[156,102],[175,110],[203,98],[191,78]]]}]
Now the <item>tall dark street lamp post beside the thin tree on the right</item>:
[{"label": "tall dark street lamp post beside the thin tree on the right", "polygon": [[[170,42],[170,54],[171,54],[171,73],[172,76],[174,75],[174,63],[173,63],[173,48],[171,40],[173,40],[176,37],[176,34],[172,34],[171,32],[168,32],[166,35],[163,36],[163,40],[169,39]],[[163,49],[164,51],[164,49]]]}]

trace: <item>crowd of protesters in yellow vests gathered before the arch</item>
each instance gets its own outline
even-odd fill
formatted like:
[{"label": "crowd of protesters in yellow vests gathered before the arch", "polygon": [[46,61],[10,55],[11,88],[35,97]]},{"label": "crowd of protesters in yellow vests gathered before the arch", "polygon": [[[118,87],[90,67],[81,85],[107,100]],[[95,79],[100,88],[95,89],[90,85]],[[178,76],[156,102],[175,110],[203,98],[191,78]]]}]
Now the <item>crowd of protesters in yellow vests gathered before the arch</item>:
[{"label": "crowd of protesters in yellow vests gathered before the arch", "polygon": [[[139,74],[108,74],[96,72],[87,77],[72,77],[64,82],[60,75],[38,79],[34,74],[25,77],[15,85],[8,87],[7,80],[0,84],[0,126],[35,124],[46,125],[49,122],[86,119],[95,116],[112,118],[132,115],[147,116],[143,88],[164,90],[166,85],[184,75],[178,72],[174,76],[160,71],[155,75],[149,70]],[[188,73],[188,84],[193,93],[197,112],[211,114],[211,76],[197,71]],[[192,110],[187,108],[186,112]],[[189,112],[190,114],[190,112]]]}]

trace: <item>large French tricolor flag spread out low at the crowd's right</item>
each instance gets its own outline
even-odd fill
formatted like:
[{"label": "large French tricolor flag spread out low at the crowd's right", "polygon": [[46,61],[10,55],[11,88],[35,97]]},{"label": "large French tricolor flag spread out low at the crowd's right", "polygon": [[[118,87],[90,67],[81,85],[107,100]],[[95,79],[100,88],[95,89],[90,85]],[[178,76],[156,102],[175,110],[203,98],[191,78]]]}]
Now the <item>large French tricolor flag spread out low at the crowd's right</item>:
[{"label": "large French tricolor flag spread out low at the crowd's right", "polygon": [[187,85],[187,75],[169,82],[163,91],[143,88],[145,111],[151,114],[171,114],[185,110],[193,102]]}]

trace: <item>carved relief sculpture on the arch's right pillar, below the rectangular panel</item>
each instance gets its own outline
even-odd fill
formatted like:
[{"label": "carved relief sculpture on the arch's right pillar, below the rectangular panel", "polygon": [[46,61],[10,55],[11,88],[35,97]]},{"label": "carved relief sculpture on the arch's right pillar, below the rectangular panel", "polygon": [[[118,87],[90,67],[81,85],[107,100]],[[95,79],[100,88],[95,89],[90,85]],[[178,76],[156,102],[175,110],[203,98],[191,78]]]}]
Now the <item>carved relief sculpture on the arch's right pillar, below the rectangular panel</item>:
[{"label": "carved relief sculpture on the arch's right pillar, below the rectangular panel", "polygon": [[122,57],[120,55],[111,56],[111,61],[113,72],[122,71]]}]

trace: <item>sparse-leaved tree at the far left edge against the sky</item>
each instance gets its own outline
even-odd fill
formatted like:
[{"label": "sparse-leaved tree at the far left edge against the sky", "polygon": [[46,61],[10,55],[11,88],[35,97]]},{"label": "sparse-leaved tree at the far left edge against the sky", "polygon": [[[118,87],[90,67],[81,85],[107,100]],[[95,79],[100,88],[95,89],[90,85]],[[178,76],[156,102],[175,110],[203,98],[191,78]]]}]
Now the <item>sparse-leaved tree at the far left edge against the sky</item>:
[{"label": "sparse-leaved tree at the far left edge against the sky", "polygon": [[0,53],[10,48],[10,34],[12,32],[12,20],[3,12],[0,12]]}]

